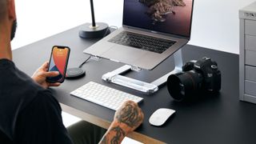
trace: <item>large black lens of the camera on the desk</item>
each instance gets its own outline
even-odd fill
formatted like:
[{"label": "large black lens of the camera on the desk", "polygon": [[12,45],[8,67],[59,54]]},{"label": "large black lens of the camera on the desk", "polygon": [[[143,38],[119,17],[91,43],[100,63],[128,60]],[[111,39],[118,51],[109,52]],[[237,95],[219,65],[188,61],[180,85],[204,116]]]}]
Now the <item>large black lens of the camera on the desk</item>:
[{"label": "large black lens of the camera on the desk", "polygon": [[202,80],[202,74],[194,70],[171,74],[167,79],[170,96],[179,102],[184,99],[190,99],[193,94],[202,89]]}]

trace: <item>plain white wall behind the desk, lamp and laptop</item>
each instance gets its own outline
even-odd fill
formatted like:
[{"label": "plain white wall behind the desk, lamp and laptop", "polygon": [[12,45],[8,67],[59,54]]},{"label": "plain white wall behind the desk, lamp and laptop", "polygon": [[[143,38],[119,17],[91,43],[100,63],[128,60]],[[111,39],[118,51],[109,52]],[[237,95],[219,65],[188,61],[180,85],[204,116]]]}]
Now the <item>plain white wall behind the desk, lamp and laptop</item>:
[{"label": "plain white wall behind the desk, lamp and laptop", "polygon": [[[190,44],[239,53],[238,10],[254,0],[195,0]],[[98,22],[122,26],[122,0],[94,0]],[[90,22],[89,0],[16,1],[13,49]]]}]

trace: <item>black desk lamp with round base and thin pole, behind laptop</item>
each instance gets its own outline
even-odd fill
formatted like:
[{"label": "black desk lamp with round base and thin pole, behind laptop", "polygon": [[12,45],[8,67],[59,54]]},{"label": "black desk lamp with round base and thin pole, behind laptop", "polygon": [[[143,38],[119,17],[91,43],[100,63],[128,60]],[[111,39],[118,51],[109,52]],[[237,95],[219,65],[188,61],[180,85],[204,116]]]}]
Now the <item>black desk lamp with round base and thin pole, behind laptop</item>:
[{"label": "black desk lamp with round base and thin pole, behind laptop", "polygon": [[90,10],[92,23],[86,23],[83,30],[79,31],[80,38],[102,38],[110,33],[108,25],[103,22],[95,22],[94,18],[94,1],[90,0]]}]

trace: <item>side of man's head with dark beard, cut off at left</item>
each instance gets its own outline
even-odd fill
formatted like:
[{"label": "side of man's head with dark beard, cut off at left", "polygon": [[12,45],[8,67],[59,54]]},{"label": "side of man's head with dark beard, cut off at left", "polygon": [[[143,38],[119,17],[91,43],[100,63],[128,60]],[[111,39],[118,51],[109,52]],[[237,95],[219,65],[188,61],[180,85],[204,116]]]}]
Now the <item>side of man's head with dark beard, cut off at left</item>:
[{"label": "side of man's head with dark beard, cut off at left", "polygon": [[0,25],[6,20],[12,20],[10,39],[15,36],[17,20],[15,14],[14,0],[0,0]]}]

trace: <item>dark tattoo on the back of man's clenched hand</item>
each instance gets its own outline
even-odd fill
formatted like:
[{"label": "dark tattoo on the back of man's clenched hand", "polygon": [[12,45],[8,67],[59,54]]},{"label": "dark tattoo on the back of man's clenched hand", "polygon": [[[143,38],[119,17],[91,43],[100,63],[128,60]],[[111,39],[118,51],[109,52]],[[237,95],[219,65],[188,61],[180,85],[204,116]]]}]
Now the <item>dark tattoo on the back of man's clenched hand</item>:
[{"label": "dark tattoo on the back of man's clenched hand", "polygon": [[119,122],[126,123],[127,126],[135,127],[141,121],[141,117],[138,114],[138,109],[128,103],[126,107],[122,108],[117,119]]}]

